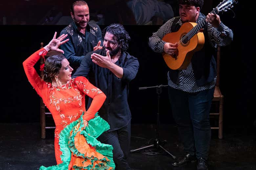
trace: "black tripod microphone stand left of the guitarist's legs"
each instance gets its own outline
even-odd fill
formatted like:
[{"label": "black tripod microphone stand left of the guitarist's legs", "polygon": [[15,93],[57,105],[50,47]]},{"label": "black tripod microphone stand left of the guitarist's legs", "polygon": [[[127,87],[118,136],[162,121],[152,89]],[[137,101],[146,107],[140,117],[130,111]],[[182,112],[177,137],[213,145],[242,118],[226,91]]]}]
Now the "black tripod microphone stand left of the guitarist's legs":
[{"label": "black tripod microphone stand left of the guitarist's legs", "polygon": [[168,152],[164,147],[161,146],[161,144],[165,144],[167,143],[166,140],[164,141],[160,141],[160,138],[159,138],[159,127],[160,127],[160,120],[159,120],[159,110],[160,110],[160,94],[162,93],[162,87],[167,87],[168,85],[157,85],[157,86],[152,86],[152,87],[139,87],[139,90],[142,90],[142,89],[149,89],[149,88],[156,88],[156,92],[158,94],[158,112],[157,112],[157,134],[156,134],[156,139],[154,141],[154,144],[153,145],[149,145],[149,146],[145,146],[145,147],[141,147],[141,148],[138,148],[138,149],[132,149],[130,150],[130,152],[135,152],[137,150],[141,150],[141,149],[145,149],[145,148],[149,148],[149,147],[155,147],[155,148],[162,148],[165,152],[167,152],[169,155],[172,156],[173,159],[176,159],[176,156],[172,155],[170,152]]}]

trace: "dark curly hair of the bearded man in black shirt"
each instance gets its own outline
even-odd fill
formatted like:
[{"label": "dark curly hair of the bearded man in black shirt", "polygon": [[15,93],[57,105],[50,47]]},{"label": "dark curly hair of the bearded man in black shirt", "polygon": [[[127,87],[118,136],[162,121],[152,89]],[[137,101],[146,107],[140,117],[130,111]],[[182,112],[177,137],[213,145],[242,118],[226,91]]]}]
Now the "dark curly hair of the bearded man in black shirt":
[{"label": "dark curly hair of the bearded man in black shirt", "polygon": [[117,42],[121,52],[124,52],[128,49],[131,38],[128,32],[124,29],[123,25],[119,23],[112,23],[111,25],[104,28],[102,31],[102,37],[105,37],[106,32],[114,35],[113,39]]}]

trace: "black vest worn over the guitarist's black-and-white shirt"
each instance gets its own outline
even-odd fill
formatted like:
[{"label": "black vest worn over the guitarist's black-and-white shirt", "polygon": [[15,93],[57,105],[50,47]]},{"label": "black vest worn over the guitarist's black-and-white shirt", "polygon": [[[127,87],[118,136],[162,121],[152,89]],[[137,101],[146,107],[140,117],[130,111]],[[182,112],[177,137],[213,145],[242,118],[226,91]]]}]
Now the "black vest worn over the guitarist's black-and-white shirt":
[{"label": "black vest worn over the guitarist's black-and-white shirt", "polygon": [[[176,17],[173,21],[171,32],[176,32],[180,29],[180,25],[177,23],[180,17]],[[210,46],[207,36],[207,24],[204,27],[204,45],[203,48],[195,52],[191,59],[191,64],[196,79],[196,84],[199,86],[206,85],[213,81],[217,75],[216,61],[216,49]],[[173,83],[178,80],[179,70],[169,69],[169,77]]]}]

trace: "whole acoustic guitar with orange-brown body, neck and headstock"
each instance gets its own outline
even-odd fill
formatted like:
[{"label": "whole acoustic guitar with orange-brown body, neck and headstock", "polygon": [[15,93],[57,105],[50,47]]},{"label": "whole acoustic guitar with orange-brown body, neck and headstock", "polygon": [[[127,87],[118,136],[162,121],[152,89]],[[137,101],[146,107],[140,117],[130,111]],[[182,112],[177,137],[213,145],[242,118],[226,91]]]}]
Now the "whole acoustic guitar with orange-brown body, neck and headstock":
[{"label": "whole acoustic guitar with orange-brown body, neck and headstock", "polygon": [[[237,0],[224,0],[211,13],[218,14],[221,11],[233,8]],[[177,51],[173,55],[162,53],[165,63],[172,70],[187,68],[193,54],[203,48],[204,35],[201,31],[207,23],[206,17],[200,23],[183,23],[177,32],[171,32],[163,37],[163,41],[175,44],[178,43]]]}]

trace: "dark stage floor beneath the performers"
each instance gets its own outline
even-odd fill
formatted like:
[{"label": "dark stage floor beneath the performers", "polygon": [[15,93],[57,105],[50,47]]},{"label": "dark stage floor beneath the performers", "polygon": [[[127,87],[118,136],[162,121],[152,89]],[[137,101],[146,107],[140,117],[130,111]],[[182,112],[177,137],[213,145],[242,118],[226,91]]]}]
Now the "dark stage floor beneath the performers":
[{"label": "dark stage floor beneath the performers", "polygon": [[[46,130],[41,139],[38,123],[0,123],[0,170],[36,170],[41,165],[55,165],[53,130]],[[209,170],[255,170],[255,134],[248,131],[224,133],[218,139],[212,130]],[[154,144],[155,124],[132,124],[131,149]],[[160,125],[162,146],[177,158],[182,155],[182,145],[175,125]],[[153,153],[156,153],[154,155]],[[130,153],[128,162],[136,170],[195,170],[196,163],[174,167],[175,160],[161,148],[150,147]]]}]

